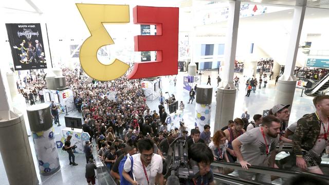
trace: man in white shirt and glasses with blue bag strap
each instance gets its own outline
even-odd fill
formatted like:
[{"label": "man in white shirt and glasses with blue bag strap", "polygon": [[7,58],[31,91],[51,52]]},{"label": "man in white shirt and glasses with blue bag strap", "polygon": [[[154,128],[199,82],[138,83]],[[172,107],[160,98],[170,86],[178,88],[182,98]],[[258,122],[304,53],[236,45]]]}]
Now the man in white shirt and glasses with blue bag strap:
[{"label": "man in white shirt and glasses with blue bag strap", "polygon": [[150,139],[139,140],[138,150],[139,153],[132,156],[135,180],[129,175],[132,166],[130,158],[124,163],[122,176],[133,185],[156,182],[163,185],[162,157],[153,153],[153,142]]}]

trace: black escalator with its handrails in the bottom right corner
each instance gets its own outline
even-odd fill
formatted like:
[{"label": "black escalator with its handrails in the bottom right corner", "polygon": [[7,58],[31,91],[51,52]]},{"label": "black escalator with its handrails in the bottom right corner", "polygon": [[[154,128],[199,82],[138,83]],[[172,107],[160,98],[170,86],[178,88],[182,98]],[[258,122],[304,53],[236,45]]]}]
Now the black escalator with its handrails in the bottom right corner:
[{"label": "black escalator with its handrails in the bottom right corner", "polygon": [[219,174],[219,173],[214,172],[214,179],[216,181],[215,184],[218,184],[218,183],[227,183],[227,184],[258,184],[258,183],[261,183],[261,184],[266,184],[264,182],[257,182],[257,181],[253,181],[253,180],[245,180],[245,179],[239,178],[239,177],[237,177],[237,170],[243,170],[243,171],[260,173],[260,174],[270,174],[271,176],[276,176],[278,178],[278,180],[272,181],[272,184],[282,184],[282,183],[284,183],[285,180],[287,180],[291,177],[295,177],[296,175],[300,175],[300,174],[317,177],[317,178],[325,180],[326,182],[329,183],[328,176],[307,173],[307,172],[273,169],[273,168],[255,166],[255,165],[248,167],[248,170],[244,170],[239,163],[228,163],[228,162],[213,162],[213,163],[211,163],[211,166],[213,168],[222,167],[222,168],[234,169],[234,172],[229,175],[224,175],[224,174]]}]

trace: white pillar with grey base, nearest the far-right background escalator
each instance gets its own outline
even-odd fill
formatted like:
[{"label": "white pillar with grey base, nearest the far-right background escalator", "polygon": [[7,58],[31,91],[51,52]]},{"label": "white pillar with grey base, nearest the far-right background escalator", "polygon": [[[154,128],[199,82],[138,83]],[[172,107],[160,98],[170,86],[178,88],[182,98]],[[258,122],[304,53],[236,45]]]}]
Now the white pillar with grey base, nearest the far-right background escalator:
[{"label": "white pillar with grey base, nearest the far-right background escalator", "polygon": [[290,32],[290,41],[288,45],[286,65],[284,67],[283,75],[278,80],[275,104],[293,104],[296,89],[296,77],[294,76],[294,69],[296,65],[296,57],[298,52],[300,35],[303,27],[305,10],[306,7],[304,6],[296,7],[294,11],[293,25]]}]

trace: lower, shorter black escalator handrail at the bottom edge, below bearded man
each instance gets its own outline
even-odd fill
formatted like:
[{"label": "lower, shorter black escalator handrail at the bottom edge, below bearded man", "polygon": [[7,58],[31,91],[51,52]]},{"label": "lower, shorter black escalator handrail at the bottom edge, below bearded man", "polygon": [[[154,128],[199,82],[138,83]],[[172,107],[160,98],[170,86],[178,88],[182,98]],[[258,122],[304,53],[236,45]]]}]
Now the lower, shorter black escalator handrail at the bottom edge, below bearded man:
[{"label": "lower, shorter black escalator handrail at the bottom edge, below bearded man", "polygon": [[221,173],[213,173],[214,179],[220,179],[220,181],[229,182],[230,184],[246,184],[246,185],[270,185],[269,183],[257,182],[254,180],[247,180],[236,176],[225,175]]}]

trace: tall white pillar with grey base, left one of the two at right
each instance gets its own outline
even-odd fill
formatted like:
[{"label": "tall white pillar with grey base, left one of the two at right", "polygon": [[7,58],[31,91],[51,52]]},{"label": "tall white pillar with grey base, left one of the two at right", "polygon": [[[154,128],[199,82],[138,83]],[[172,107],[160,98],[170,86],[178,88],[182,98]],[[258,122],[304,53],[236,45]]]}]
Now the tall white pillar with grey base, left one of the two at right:
[{"label": "tall white pillar with grey base, left one of the two at right", "polygon": [[216,114],[214,131],[227,125],[228,120],[233,119],[236,89],[233,83],[234,60],[237,42],[237,29],[239,28],[241,1],[229,2],[228,27],[225,43],[225,55],[223,65],[223,86],[217,88]]}]

